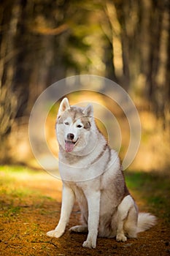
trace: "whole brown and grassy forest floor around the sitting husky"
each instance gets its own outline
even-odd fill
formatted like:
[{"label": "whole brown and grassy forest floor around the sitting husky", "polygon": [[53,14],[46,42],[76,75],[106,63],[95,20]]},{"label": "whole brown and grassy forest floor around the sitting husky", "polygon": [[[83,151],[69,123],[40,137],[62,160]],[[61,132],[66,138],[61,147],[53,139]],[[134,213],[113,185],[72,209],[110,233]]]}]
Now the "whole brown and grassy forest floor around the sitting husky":
[{"label": "whole brown and grassy forest floor around the sitting husky", "polygon": [[[146,176],[129,172],[126,177],[140,211],[150,211],[158,217],[155,227],[139,233],[137,239],[128,239],[125,243],[118,243],[115,238],[98,238],[96,249],[85,249],[82,248],[82,242],[86,235],[69,233],[69,227],[80,222],[77,205],[73,208],[66,233],[59,239],[46,236],[47,231],[53,230],[57,225],[60,217],[60,180],[45,171],[33,171],[23,167],[18,170],[18,167],[6,166],[0,170],[0,255],[170,255],[167,201],[169,182],[166,178],[162,178],[162,181],[160,177],[155,178],[157,185],[154,188],[150,174]],[[135,181],[136,185],[133,185]],[[146,191],[147,181],[151,185]],[[138,186],[137,190],[135,186]],[[155,192],[156,187],[158,192]],[[154,193],[155,199],[147,205],[146,198],[150,198],[150,193]]]}]

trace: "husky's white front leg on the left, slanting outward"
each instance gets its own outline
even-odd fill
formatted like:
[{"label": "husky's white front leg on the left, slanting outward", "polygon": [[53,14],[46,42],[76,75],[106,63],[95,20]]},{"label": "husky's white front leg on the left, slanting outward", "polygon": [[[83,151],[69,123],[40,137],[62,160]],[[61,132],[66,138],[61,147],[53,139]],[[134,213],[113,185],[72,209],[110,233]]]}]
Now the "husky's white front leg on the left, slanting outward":
[{"label": "husky's white front leg on the left, slanting outward", "polygon": [[63,186],[61,217],[55,230],[47,232],[47,236],[59,238],[63,235],[74,205],[74,192],[69,187]]}]

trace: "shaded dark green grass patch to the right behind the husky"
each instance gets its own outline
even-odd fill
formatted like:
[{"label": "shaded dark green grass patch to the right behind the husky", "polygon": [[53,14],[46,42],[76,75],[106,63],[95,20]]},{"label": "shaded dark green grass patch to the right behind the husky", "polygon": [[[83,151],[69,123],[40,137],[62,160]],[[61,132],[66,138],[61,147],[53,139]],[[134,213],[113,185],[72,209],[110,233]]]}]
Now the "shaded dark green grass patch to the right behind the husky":
[{"label": "shaded dark green grass patch to the right behind the husky", "polygon": [[163,173],[125,172],[128,188],[147,203],[152,212],[169,223],[170,179]]}]

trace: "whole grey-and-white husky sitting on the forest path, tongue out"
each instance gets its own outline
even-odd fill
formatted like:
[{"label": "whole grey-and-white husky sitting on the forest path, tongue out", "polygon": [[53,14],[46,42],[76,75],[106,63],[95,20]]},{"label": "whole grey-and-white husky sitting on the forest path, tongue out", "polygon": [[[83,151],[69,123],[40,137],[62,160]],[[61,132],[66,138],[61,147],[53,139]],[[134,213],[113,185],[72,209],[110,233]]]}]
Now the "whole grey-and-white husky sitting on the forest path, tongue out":
[{"label": "whole grey-and-white husky sitting on the forest path, tongue out", "polygon": [[125,185],[120,159],[96,127],[92,105],[70,106],[64,98],[55,128],[63,195],[61,218],[47,236],[63,235],[75,200],[82,225],[70,230],[88,233],[83,247],[95,248],[97,236],[124,242],[155,225],[153,215],[138,212]]}]

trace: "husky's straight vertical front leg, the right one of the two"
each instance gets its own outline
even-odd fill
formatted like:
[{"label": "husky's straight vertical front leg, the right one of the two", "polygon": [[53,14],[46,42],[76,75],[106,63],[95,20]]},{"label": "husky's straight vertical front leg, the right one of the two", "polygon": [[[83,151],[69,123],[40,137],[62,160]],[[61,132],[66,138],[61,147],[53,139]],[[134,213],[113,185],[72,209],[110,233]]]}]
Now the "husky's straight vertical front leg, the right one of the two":
[{"label": "husky's straight vertical front leg, the right one of the two", "polygon": [[92,192],[88,199],[88,238],[82,244],[83,247],[96,248],[98,236],[98,222],[100,212],[100,192]]}]

